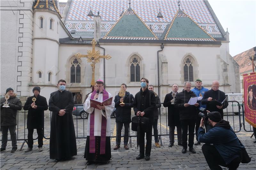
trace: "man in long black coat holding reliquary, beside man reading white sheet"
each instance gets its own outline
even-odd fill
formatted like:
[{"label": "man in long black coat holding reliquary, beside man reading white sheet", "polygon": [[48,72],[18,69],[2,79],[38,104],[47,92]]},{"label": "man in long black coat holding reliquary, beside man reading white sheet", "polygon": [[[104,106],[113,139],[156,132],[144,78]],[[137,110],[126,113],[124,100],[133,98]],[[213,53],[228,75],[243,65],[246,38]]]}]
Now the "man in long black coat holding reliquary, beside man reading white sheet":
[{"label": "man in long black coat holding reliquary, beside man reading white sheet", "polygon": [[172,85],[172,92],[165,95],[164,107],[168,107],[168,126],[169,126],[169,147],[174,145],[174,129],[177,127],[178,145],[182,146],[182,132],[180,125],[180,113],[179,109],[174,107],[174,101],[176,94],[178,93],[179,86],[177,84]]}]

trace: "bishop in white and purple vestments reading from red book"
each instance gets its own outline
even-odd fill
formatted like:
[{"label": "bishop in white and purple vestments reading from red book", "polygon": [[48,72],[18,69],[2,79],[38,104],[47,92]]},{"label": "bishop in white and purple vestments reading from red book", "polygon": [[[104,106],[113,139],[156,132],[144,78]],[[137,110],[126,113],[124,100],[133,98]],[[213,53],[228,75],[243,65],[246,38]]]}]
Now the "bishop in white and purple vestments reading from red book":
[{"label": "bishop in white and purple vestments reading from red book", "polygon": [[97,105],[97,108],[91,107],[90,100],[102,102],[112,97],[104,89],[104,82],[97,80],[96,89],[89,94],[84,102],[84,111],[89,113],[87,126],[87,140],[85,144],[84,158],[87,165],[92,162],[108,162],[111,158],[110,148],[110,115],[114,109],[115,103],[107,106]]}]

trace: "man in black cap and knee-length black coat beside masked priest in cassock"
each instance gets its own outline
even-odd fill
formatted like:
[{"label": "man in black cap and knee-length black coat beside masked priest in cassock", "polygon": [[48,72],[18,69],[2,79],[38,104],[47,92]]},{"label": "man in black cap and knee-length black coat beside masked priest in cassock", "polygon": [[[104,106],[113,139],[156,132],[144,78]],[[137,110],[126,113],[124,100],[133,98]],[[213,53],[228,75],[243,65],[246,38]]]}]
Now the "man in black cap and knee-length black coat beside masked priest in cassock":
[{"label": "man in black cap and knee-length black coat beside masked priest in cassock", "polygon": [[[28,110],[28,120],[27,120],[27,129],[28,129],[28,148],[25,152],[32,151],[33,148],[33,133],[36,129],[38,135],[38,151],[43,151],[43,127],[44,127],[44,110],[48,109],[46,98],[40,96],[40,87],[34,87],[34,95],[28,97],[24,110]],[[33,99],[36,99],[34,102]]]}]

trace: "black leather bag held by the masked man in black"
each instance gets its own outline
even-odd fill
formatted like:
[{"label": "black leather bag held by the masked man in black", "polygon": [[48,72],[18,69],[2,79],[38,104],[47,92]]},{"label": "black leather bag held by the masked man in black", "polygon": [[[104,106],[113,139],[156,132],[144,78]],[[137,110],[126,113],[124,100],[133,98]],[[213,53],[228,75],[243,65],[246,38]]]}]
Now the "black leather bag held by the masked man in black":
[{"label": "black leather bag held by the masked man in black", "polygon": [[[140,120],[140,121],[139,121]],[[132,130],[138,130],[138,123],[140,122],[140,132],[148,132],[149,119],[147,117],[134,116],[132,117]]]}]

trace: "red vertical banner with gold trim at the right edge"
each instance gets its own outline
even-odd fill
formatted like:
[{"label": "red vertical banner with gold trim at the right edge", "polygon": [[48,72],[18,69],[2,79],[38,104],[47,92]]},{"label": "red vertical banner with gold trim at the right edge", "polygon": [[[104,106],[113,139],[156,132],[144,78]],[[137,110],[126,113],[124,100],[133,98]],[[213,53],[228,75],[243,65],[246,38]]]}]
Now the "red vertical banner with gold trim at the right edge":
[{"label": "red vertical banner with gold trim at the right edge", "polygon": [[256,128],[256,72],[243,74],[243,79],[245,120]]}]

